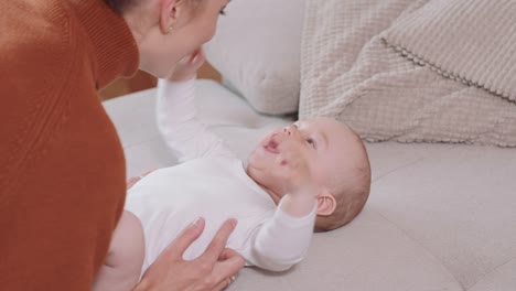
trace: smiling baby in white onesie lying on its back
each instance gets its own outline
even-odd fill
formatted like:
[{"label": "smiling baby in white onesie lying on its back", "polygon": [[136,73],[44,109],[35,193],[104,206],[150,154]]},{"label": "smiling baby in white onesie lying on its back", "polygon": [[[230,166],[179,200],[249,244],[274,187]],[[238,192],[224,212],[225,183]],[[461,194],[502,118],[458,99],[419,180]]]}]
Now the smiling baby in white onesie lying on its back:
[{"label": "smiling baby in white onesie lying on its back", "polygon": [[367,152],[361,138],[334,119],[273,130],[246,164],[237,159],[196,120],[194,79],[184,72],[203,61],[198,53],[183,64],[187,69],[176,68],[172,80],[159,83],[158,125],[182,163],[153,171],[128,190],[105,263],[120,270],[103,268],[94,290],[130,290],[196,217],[204,217],[206,226],[184,259],[202,255],[222,223],[235,217],[238,225],[227,247],[247,266],[283,271],[301,261],[314,229],[350,223],[366,203]]}]

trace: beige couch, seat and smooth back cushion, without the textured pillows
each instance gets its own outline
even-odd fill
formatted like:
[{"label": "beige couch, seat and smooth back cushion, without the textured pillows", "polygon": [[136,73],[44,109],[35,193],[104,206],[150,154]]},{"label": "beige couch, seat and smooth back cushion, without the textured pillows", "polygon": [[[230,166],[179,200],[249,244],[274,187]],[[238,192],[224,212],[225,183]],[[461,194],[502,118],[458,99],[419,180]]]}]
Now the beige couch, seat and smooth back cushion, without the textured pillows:
[{"label": "beige couch, seat and smooth back cushion, without the textured pillows", "polygon": [[[256,109],[291,112],[299,95],[303,1],[278,2],[232,1],[206,47],[227,87],[197,82],[200,117],[243,159],[264,132],[291,121]],[[154,123],[154,95],[150,89],[105,103],[128,175],[176,163]],[[264,107],[265,95],[278,106]],[[292,270],[246,268],[229,290],[516,290],[516,150],[366,146],[373,186],[363,213],[343,228],[315,234]]]}]

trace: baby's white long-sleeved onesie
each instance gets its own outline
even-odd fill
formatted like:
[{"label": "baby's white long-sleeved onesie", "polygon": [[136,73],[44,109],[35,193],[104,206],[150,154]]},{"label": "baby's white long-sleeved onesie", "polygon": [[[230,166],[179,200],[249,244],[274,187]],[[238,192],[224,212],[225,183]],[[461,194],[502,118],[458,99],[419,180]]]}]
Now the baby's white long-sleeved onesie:
[{"label": "baby's white long-sleeved onesie", "polygon": [[222,224],[235,217],[238,225],[227,247],[241,254],[247,266],[289,269],[310,245],[315,200],[304,217],[284,213],[224,142],[196,120],[195,111],[194,80],[159,82],[158,125],[182,163],[150,173],[128,191],[126,209],[143,225],[142,272],[201,216],[206,220],[204,233],[186,249],[184,259],[201,256]]}]

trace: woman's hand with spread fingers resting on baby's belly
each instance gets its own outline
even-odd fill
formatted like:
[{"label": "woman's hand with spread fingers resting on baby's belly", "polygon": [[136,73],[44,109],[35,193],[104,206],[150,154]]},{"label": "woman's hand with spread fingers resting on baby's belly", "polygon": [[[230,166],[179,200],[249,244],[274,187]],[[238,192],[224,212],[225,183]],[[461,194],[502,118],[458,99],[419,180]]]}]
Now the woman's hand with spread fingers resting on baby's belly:
[{"label": "woman's hand with spread fingers resting on baby's belly", "polygon": [[203,218],[189,226],[152,263],[135,291],[152,290],[223,290],[235,280],[244,259],[226,241],[235,229],[236,219],[223,224],[204,254],[194,260],[183,260],[183,252],[204,230]]}]

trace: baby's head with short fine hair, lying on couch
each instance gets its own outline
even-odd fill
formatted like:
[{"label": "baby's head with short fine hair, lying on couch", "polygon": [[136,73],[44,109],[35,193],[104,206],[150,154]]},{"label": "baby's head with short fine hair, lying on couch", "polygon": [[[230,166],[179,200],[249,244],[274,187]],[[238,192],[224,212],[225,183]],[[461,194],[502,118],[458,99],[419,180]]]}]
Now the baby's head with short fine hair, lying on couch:
[{"label": "baby's head with short fine hair, lying on couch", "polygon": [[[299,120],[267,134],[248,158],[247,172],[279,203],[286,195],[280,157],[301,159],[318,191],[316,230],[332,230],[355,218],[369,195],[370,166],[359,136],[331,118]],[[295,170],[292,170],[295,171]],[[295,172],[289,179],[295,179]]]}]

